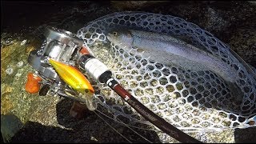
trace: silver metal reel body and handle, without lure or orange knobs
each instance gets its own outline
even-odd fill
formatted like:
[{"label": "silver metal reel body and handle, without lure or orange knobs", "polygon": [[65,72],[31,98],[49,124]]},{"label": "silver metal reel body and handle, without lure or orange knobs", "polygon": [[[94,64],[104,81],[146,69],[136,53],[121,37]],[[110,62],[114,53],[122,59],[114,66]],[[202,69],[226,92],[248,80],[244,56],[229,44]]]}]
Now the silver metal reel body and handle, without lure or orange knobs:
[{"label": "silver metal reel body and handle, without lure or orange knobs", "polygon": [[47,27],[44,36],[46,40],[42,42],[41,48],[31,51],[28,57],[28,62],[36,70],[36,74],[42,78],[39,95],[46,95],[50,92],[53,95],[75,98],[74,95],[78,94],[59,78],[48,59],[52,58],[55,61],[75,66],[83,41],[70,31],[54,27]]}]

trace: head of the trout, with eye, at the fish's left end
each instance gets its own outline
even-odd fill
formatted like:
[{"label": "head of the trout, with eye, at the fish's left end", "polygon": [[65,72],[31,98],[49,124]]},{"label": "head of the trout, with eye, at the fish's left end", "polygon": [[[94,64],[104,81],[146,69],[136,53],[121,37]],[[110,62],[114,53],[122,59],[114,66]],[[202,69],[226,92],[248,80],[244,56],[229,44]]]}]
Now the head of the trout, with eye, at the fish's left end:
[{"label": "head of the trout, with eye, at the fish's left end", "polygon": [[134,40],[129,30],[111,30],[106,38],[115,45],[131,45]]}]

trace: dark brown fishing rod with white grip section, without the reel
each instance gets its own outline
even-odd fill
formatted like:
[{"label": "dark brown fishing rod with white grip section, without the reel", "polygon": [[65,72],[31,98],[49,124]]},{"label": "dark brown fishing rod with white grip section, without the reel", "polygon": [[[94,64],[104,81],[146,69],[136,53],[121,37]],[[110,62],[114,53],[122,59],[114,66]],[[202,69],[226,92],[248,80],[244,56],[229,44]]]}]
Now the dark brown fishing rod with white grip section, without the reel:
[{"label": "dark brown fishing rod with white grip section, without the reel", "polygon": [[[86,51],[86,50],[85,50]],[[172,126],[169,122],[166,122],[163,118],[154,114],[141,102],[139,102],[134,96],[132,96],[127,90],[125,90],[113,77],[112,72],[107,68],[107,66],[100,62],[97,58],[90,54],[84,53],[78,60],[80,68],[86,70],[91,77],[99,82],[105,83],[112,90],[114,90],[119,96],[122,97],[134,110],[142,114],[144,118],[157,126],[160,130],[169,134],[171,137],[177,139],[179,142],[200,142],[195,138],[190,137],[190,135],[178,130],[175,126]]]}]

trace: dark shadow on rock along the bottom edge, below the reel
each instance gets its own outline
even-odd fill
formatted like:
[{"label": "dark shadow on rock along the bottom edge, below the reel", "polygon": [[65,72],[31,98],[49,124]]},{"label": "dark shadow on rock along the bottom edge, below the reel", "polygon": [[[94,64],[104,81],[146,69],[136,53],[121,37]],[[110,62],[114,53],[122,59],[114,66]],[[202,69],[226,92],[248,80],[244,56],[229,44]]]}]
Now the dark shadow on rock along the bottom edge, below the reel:
[{"label": "dark shadow on rock along the bottom edge, below the reel", "polygon": [[[141,134],[150,142],[160,142],[158,135],[154,131],[136,130],[138,134],[134,134],[134,131],[126,126],[104,119],[104,121],[108,121],[110,126],[118,131],[118,134],[106,122],[98,118],[94,112],[89,112],[82,118],[73,118],[69,114],[72,104],[73,101],[64,98],[56,106],[58,123],[64,126],[64,128],[44,126],[38,122],[28,121],[14,134],[9,142],[146,142],[138,134]],[[125,135],[126,138],[123,138],[121,134]],[[126,139],[129,139],[129,141]]]}]

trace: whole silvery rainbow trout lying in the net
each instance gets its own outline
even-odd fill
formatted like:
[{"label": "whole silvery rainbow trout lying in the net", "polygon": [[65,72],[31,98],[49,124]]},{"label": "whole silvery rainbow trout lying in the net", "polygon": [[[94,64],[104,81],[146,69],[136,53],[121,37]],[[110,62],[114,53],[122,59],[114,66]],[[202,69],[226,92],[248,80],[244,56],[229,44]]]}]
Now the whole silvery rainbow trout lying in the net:
[{"label": "whole silvery rainbow trout lying in the net", "polygon": [[112,30],[107,38],[129,51],[132,46],[143,56],[168,66],[170,62],[190,70],[212,70],[227,82],[235,82],[238,75],[233,67],[213,54],[166,34],[141,30]]}]

